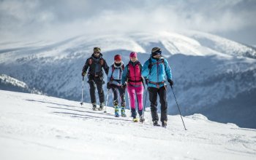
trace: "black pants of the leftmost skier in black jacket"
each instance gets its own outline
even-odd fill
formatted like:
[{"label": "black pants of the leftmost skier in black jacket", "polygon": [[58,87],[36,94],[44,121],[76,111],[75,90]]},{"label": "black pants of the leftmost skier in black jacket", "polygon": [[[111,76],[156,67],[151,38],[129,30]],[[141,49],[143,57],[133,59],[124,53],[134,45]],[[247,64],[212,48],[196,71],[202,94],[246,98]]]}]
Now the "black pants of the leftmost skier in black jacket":
[{"label": "black pants of the leftmost skier in black jacket", "polygon": [[102,79],[102,76],[95,77],[95,76],[89,75],[88,79],[89,79],[88,83],[90,85],[91,103],[96,103],[95,86],[97,87],[97,90],[98,90],[99,103],[105,103],[105,95],[102,88],[104,81]]}]

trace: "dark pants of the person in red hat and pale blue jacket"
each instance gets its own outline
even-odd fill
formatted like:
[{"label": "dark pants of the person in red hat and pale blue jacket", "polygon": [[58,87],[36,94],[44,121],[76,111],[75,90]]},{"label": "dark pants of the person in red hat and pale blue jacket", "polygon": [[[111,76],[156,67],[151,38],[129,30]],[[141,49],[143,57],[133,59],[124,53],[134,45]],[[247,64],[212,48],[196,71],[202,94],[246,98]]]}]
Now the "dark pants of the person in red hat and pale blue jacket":
[{"label": "dark pants of the person in red hat and pale blue jacket", "polygon": [[121,106],[125,106],[125,89],[123,89],[121,86],[117,86],[115,84],[110,85],[112,91],[113,91],[113,105],[118,105],[118,92],[121,97]]}]

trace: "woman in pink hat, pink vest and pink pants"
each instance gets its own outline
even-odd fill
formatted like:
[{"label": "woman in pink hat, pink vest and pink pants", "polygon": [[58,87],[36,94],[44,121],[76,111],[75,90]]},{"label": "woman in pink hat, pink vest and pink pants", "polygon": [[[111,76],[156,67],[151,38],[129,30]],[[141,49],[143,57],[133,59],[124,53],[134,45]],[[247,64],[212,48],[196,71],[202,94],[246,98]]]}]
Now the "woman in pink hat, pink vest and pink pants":
[{"label": "woman in pink hat, pink vest and pink pants", "polygon": [[141,76],[143,66],[138,61],[136,52],[131,52],[129,58],[130,61],[122,74],[122,87],[127,87],[133,121],[138,121],[135,102],[138,103],[140,121],[143,121],[143,79]]}]

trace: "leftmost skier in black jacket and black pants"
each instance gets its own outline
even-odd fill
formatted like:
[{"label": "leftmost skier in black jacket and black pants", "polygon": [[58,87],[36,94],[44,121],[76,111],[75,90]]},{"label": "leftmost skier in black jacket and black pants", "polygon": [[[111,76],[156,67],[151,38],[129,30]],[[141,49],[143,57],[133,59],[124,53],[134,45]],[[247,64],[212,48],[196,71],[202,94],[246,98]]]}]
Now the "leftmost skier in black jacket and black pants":
[{"label": "leftmost skier in black jacket and black pants", "polygon": [[105,73],[108,75],[108,64],[102,58],[101,49],[99,47],[94,47],[94,53],[86,60],[85,65],[83,66],[82,76],[86,76],[86,71],[88,71],[88,83],[90,85],[90,96],[91,96],[91,104],[92,109],[96,110],[97,103],[96,103],[96,96],[95,96],[95,85],[98,90],[99,94],[99,109],[102,110],[104,108],[105,103],[105,95],[102,88],[104,82],[104,73],[102,68],[104,68]]}]

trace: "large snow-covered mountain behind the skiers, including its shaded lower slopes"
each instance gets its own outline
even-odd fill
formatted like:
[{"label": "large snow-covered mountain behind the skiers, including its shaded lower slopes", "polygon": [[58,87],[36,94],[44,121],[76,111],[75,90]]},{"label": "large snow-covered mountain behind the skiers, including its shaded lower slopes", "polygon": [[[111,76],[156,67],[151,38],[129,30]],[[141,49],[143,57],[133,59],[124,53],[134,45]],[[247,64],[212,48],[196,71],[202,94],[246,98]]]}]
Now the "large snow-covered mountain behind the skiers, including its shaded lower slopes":
[{"label": "large snow-covered mountain behind the skiers, including its shaded lower slopes", "polygon": [[[161,47],[184,115],[203,113],[214,121],[256,128],[256,50],[209,33],[83,35],[63,41],[1,43],[0,73],[48,95],[80,100],[80,73],[93,47],[102,48],[109,65],[116,54],[127,63],[131,51],[138,52],[144,63],[152,47]],[[84,100],[90,102],[85,92]],[[170,87],[167,92],[168,111],[177,114]]]}]

